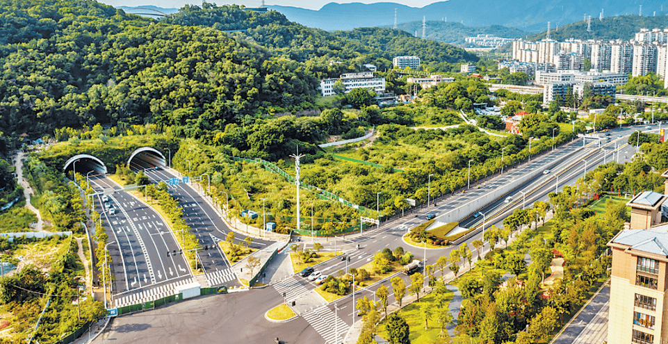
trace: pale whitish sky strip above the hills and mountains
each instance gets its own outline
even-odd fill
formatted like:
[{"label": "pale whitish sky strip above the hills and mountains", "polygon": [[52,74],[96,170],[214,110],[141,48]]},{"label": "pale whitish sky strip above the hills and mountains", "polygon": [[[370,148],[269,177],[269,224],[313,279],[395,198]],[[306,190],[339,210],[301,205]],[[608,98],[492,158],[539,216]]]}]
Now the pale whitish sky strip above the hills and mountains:
[{"label": "pale whitish sky strip above the hills and mountains", "polygon": [[[154,5],[162,8],[180,8],[186,3],[191,4],[201,4],[201,1],[192,1],[192,0],[98,0],[101,3],[106,3],[111,6],[141,6],[141,5]],[[393,2],[393,3],[402,3],[406,6],[411,7],[423,7],[427,6],[430,3],[437,2],[438,0],[395,0],[395,1],[379,1],[379,0],[265,0],[267,5],[280,5],[280,6],[295,6],[301,8],[310,8],[311,10],[318,10],[325,6],[327,3],[336,2],[336,3],[351,3],[351,2],[361,2],[361,3],[376,3],[376,2]],[[209,0],[208,2],[215,3],[217,5],[225,5],[229,3],[235,3],[237,5],[245,5],[247,7],[258,7],[262,3],[262,0],[243,0],[243,1],[216,1]]]}]

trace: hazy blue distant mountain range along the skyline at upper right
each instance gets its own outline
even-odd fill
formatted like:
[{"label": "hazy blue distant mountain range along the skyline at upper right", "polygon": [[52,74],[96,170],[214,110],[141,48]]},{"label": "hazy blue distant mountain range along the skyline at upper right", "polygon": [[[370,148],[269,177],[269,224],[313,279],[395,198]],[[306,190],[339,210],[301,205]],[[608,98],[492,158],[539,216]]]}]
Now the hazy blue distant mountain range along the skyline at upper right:
[{"label": "hazy blue distant mountain range along the skyline at upper right", "polygon": [[[425,17],[429,21],[458,22],[467,26],[503,25],[526,31],[544,31],[547,23],[552,27],[582,22],[586,15],[592,20],[603,15],[637,15],[642,5],[642,15],[664,15],[668,4],[646,0],[448,0],[432,3],[422,8],[398,3],[328,3],[320,10],[307,10],[289,6],[268,6],[283,13],[293,22],[327,31],[350,30],[357,27],[391,26],[394,9],[397,21],[414,22]],[[664,8],[665,7],[665,8]]]}]

